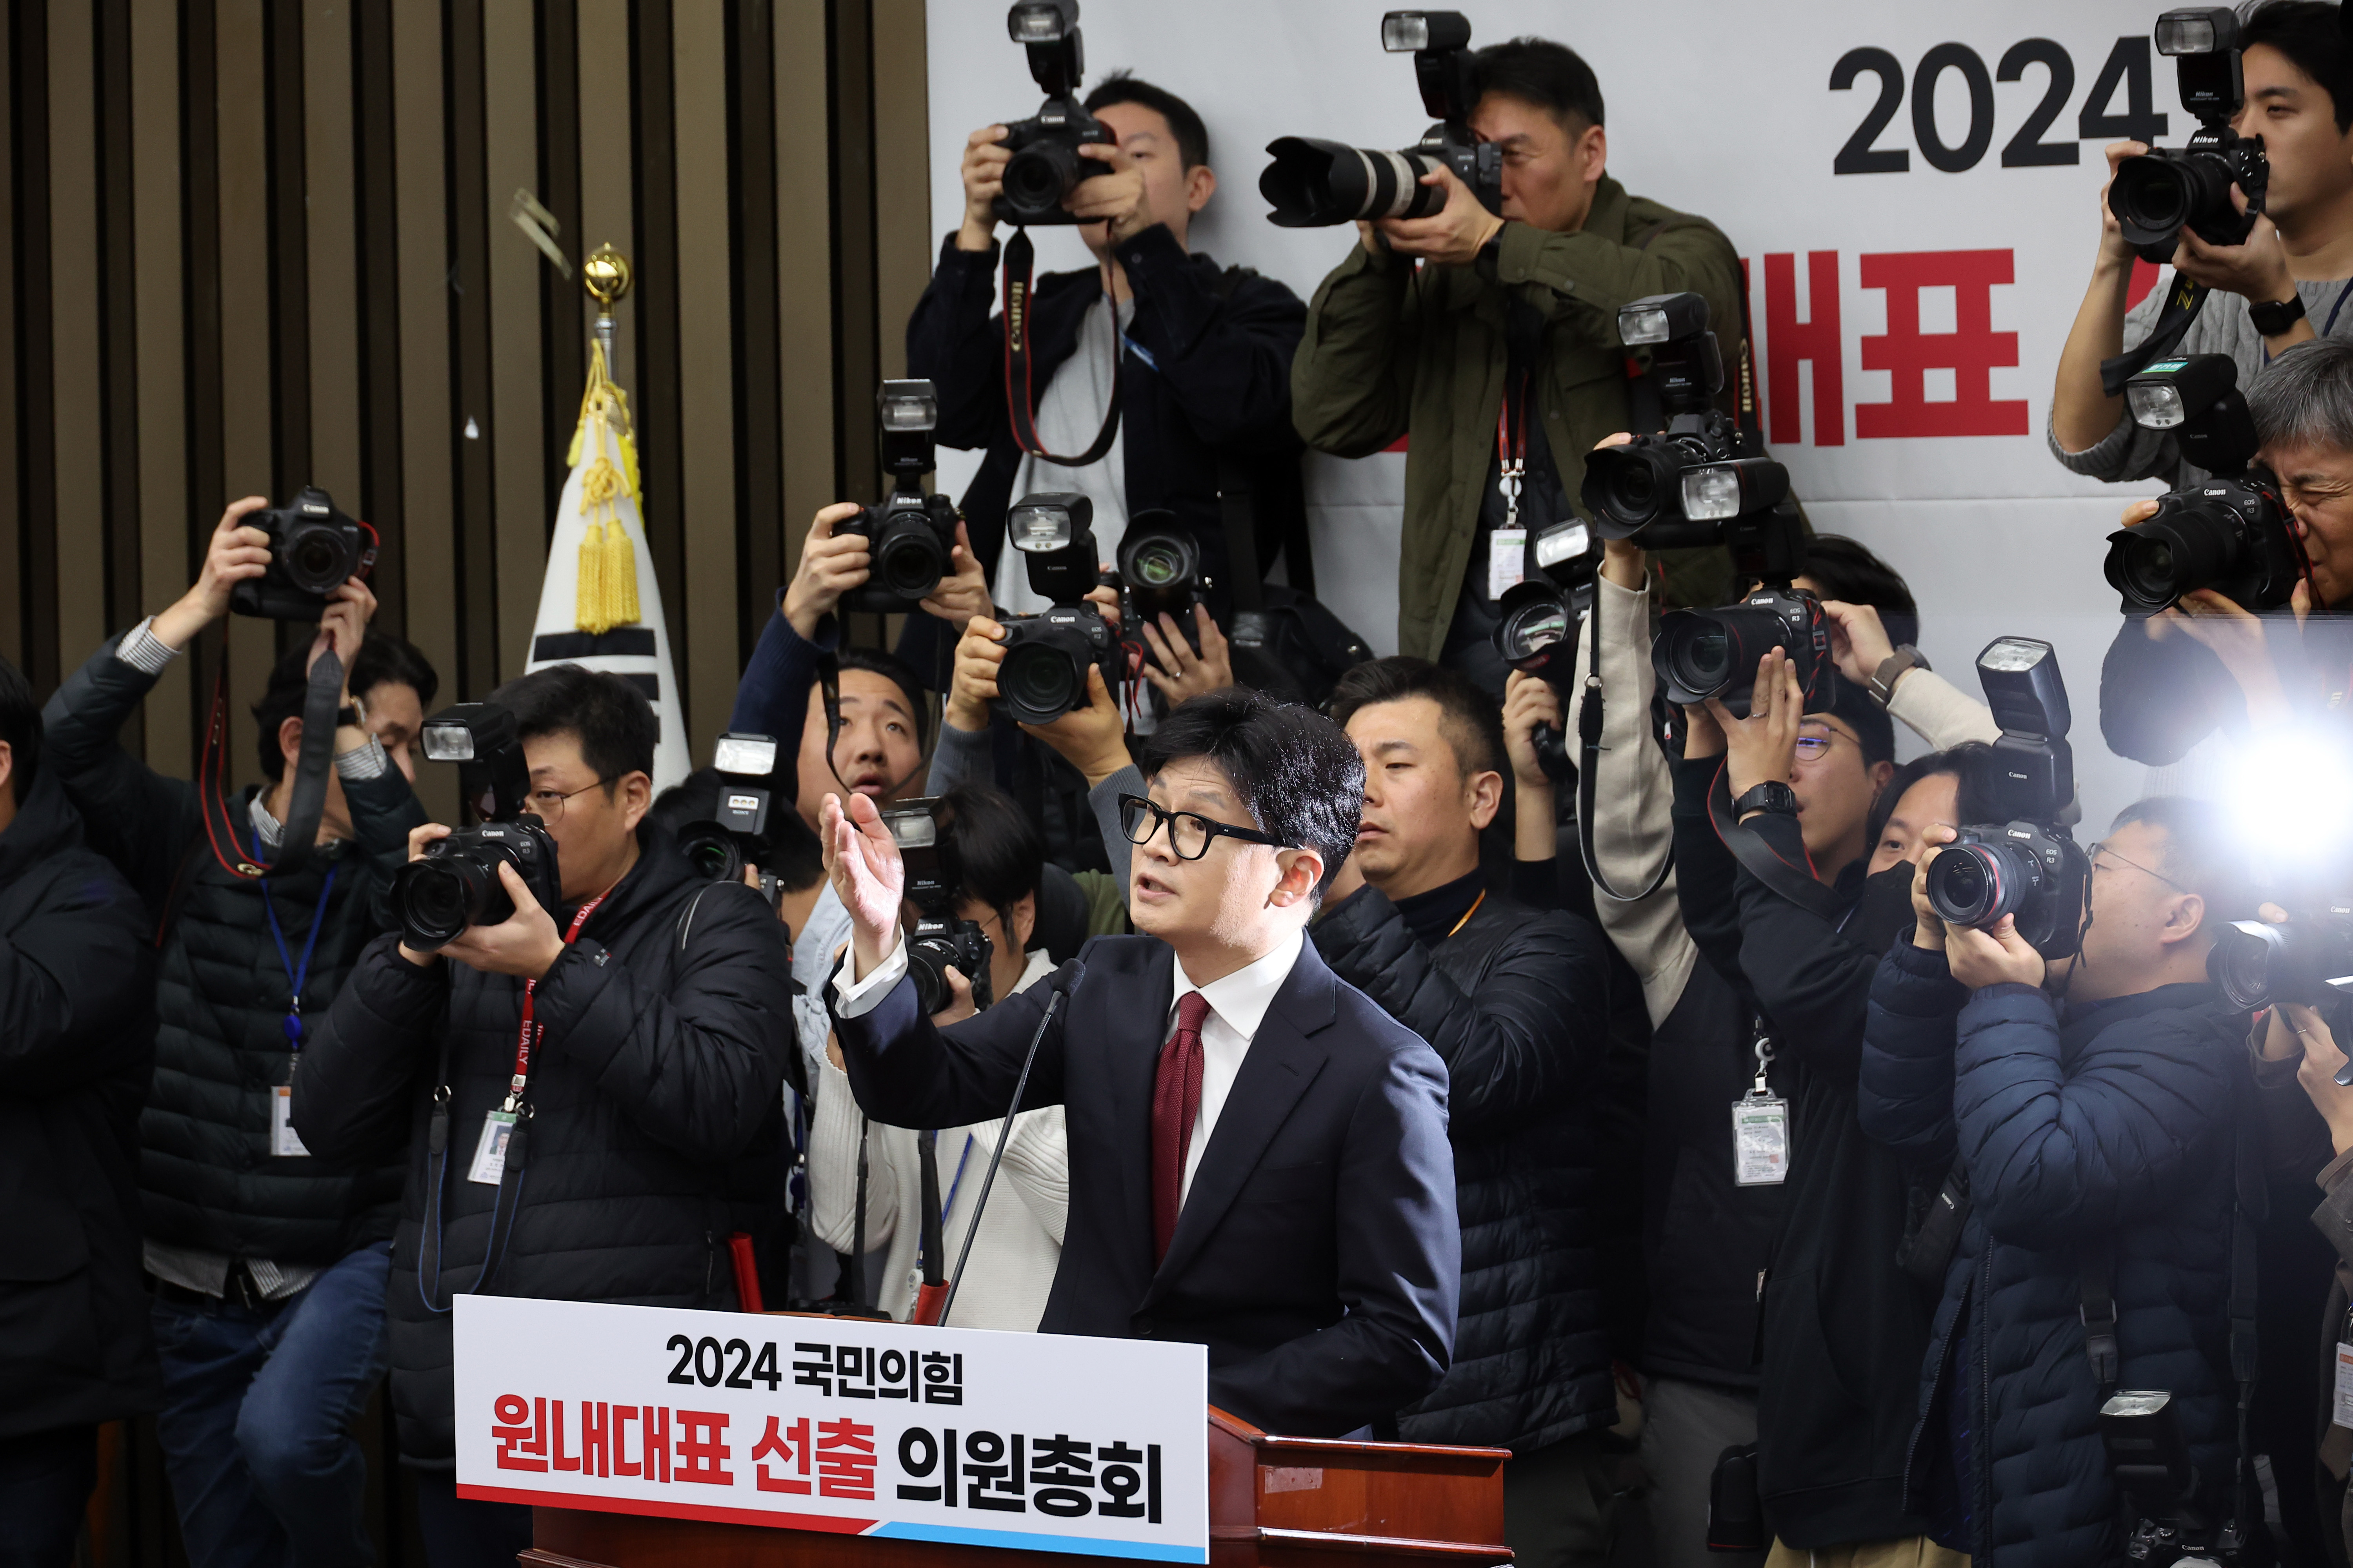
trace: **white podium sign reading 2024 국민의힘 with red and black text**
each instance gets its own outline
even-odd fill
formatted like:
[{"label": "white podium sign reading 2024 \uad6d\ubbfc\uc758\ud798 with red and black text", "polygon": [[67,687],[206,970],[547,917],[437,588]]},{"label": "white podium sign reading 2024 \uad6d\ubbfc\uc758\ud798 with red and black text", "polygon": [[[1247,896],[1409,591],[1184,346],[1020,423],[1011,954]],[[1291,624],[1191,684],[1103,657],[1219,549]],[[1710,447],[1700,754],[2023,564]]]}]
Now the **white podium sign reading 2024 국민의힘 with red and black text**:
[{"label": "white podium sign reading 2024 \uad6d\ubbfc\uc758\ud798 with red and black text", "polygon": [[539,1507],[1209,1561],[1209,1352],[456,1298],[456,1490]]}]

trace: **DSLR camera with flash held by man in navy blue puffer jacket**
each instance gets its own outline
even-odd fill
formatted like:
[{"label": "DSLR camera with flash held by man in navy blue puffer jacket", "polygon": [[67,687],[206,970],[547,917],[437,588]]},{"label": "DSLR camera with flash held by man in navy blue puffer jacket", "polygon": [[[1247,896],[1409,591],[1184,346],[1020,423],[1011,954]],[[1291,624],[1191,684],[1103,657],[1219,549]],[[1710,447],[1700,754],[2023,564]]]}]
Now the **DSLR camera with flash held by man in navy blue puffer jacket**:
[{"label": "DSLR camera with flash held by man in navy blue puffer jacket", "polygon": [[2009,820],[1977,823],[1927,867],[1927,903],[1955,926],[1991,929],[2005,914],[2045,959],[2075,952],[2092,863],[2059,820],[2075,797],[2066,743],[2066,684],[2047,642],[1995,637],[1977,656],[2002,738],[1993,743],[1988,799]]}]

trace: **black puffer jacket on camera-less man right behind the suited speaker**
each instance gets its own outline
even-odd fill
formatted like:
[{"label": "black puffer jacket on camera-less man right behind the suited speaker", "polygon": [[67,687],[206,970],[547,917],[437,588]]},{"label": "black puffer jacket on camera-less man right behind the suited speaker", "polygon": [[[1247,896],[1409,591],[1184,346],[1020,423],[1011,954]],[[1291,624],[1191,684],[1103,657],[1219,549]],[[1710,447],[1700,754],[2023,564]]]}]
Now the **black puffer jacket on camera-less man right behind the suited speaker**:
[{"label": "black puffer jacket on camera-less man right behind the suited speaker", "polygon": [[1379,889],[1313,926],[1339,978],[1447,1063],[1461,1314],[1419,1443],[1529,1453],[1617,1420],[1595,1258],[1595,1103],[1609,1051],[1602,933],[1489,893],[1435,950]]}]

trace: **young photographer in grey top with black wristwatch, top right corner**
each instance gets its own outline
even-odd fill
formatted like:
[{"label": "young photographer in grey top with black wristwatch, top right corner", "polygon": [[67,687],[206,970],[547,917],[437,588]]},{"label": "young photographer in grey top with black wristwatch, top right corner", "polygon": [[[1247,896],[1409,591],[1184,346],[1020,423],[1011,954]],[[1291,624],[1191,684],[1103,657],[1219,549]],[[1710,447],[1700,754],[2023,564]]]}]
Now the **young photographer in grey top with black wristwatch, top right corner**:
[{"label": "young photographer in grey top with black wristwatch, top right corner", "polygon": [[[2137,254],[2172,261],[2179,277],[2214,292],[2172,353],[2231,355],[2242,383],[2297,343],[2353,334],[2353,310],[2346,308],[2353,299],[2353,42],[2339,7],[2327,0],[2264,0],[2247,9],[2238,49],[2245,94],[2231,129],[2261,136],[2254,158],[2268,165],[2268,181],[2254,193],[2259,202],[2249,202],[2238,183],[2228,190],[2238,212],[2261,209],[2238,242],[2214,242],[2181,226],[2179,247],[2148,247],[2162,254],[2137,249],[2118,223],[2115,197],[2120,167],[2127,160],[2148,162],[2151,148],[2139,141],[2108,146],[2099,259],[2052,390],[2049,447],[2080,475],[2162,477],[2174,484],[2200,477],[2172,435],[2137,425],[2125,400],[2101,383],[2101,362],[2127,343],[2144,343],[2172,294],[2151,289],[2148,299],[2125,310]],[[2184,56],[2181,63],[2195,59]],[[2231,228],[2242,223],[2238,219]]]}]

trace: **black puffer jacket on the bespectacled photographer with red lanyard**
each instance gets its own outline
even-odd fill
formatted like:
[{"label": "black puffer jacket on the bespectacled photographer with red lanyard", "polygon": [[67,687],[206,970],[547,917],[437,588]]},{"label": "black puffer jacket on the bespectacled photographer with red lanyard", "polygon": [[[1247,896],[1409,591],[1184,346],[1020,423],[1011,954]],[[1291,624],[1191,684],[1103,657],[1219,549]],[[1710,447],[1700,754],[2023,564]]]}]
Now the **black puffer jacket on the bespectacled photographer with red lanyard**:
[{"label": "black puffer jacket on the bespectacled photographer with red lanyard", "polygon": [[[379,938],[294,1081],[294,1126],[313,1150],[407,1150],[388,1291],[393,1410],[412,1465],[445,1469],[454,1453],[452,1295],[736,1305],[727,1237],[746,1215],[732,1161],[784,1135],[791,959],[751,889],[694,877],[652,835],[640,844],[638,865],[539,983],[546,1034],[532,1056],[520,1208],[487,1279],[499,1187],[468,1182],[466,1166],[515,1067],[522,980],[452,959],[419,969],[395,936]],[[569,926],[572,910],[555,922]],[[435,1182],[426,1131],[442,1053],[449,1135]],[[426,1232],[440,1267],[419,1288]]]}]

